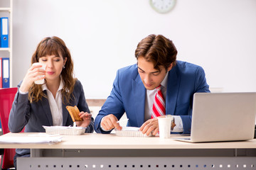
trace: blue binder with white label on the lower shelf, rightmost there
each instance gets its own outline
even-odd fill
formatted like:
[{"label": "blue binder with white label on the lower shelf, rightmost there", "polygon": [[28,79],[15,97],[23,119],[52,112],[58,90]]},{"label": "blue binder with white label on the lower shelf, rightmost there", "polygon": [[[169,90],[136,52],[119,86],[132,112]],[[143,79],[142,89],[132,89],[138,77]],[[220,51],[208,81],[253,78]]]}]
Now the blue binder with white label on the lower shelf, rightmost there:
[{"label": "blue binder with white label on the lower shelf, rightmost there", "polygon": [[3,88],[10,87],[10,60],[9,58],[2,58],[2,83]]}]

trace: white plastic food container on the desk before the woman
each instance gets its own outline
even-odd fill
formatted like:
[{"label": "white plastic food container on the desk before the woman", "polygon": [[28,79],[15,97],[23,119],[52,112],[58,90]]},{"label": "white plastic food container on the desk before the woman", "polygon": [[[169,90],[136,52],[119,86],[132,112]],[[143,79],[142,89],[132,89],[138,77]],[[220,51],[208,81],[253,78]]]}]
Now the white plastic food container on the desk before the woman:
[{"label": "white plastic food container on the desk before the woman", "polygon": [[71,126],[43,126],[46,129],[47,134],[58,135],[82,135],[85,133],[83,127],[71,127]]}]

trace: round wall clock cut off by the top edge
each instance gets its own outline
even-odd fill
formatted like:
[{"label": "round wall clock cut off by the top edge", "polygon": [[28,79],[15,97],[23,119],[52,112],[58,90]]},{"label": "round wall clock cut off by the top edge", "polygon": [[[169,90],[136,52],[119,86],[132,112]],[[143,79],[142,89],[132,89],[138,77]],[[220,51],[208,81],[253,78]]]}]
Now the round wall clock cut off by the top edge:
[{"label": "round wall clock cut off by the top edge", "polygon": [[174,8],[176,0],[149,0],[149,3],[155,11],[159,13],[168,13]]}]

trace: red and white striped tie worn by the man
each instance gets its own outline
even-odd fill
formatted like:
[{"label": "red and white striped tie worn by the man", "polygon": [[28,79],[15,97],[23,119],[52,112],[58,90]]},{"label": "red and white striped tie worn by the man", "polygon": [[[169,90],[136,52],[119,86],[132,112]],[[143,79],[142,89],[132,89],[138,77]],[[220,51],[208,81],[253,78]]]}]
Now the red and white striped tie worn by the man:
[{"label": "red and white striped tie worn by the man", "polygon": [[161,84],[156,87],[156,96],[153,103],[153,111],[151,118],[156,118],[161,115],[166,115],[164,95],[161,93]]}]

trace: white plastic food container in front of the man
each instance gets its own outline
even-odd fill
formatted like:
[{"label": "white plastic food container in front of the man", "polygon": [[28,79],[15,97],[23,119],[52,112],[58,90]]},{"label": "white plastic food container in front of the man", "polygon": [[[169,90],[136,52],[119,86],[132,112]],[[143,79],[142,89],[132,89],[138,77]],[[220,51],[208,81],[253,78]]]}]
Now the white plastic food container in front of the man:
[{"label": "white plastic food container in front of the man", "polygon": [[146,134],[143,134],[142,131],[139,131],[139,128],[137,127],[123,127],[122,130],[114,129],[117,136],[122,137],[152,137],[150,133],[149,136]]}]

